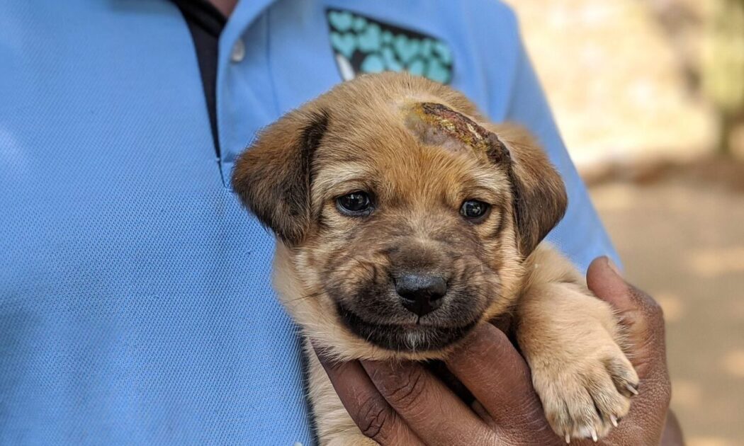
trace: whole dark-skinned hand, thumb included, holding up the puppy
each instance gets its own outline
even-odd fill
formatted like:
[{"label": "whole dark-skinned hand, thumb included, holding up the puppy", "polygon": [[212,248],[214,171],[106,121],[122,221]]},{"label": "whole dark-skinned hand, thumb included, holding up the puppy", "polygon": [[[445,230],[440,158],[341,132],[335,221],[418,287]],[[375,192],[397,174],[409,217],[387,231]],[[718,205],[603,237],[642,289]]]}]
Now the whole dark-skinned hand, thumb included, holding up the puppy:
[{"label": "whole dark-skinned hand, thumb included, holding up the puppy", "polygon": [[[629,415],[599,444],[684,445],[669,410],[661,308],[616,271],[600,257],[590,265],[587,282],[627,327],[630,359],[641,387]],[[487,416],[476,414],[417,363],[330,363],[323,358],[321,363],[351,418],[381,445],[565,445],[543,415],[527,363],[507,336],[490,324],[476,329],[446,361]],[[571,444],[594,442],[572,439]]]}]

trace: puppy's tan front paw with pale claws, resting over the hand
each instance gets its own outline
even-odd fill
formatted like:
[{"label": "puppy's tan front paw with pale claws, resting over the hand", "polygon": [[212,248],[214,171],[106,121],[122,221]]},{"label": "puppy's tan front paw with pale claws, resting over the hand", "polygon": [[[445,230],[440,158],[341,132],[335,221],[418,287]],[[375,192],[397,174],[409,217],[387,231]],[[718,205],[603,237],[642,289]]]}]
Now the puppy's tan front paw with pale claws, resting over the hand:
[{"label": "puppy's tan front paw with pale claws, resting over the hand", "polygon": [[567,443],[606,436],[638,395],[638,375],[609,336],[583,355],[538,362],[532,370],[535,390],[551,427]]}]

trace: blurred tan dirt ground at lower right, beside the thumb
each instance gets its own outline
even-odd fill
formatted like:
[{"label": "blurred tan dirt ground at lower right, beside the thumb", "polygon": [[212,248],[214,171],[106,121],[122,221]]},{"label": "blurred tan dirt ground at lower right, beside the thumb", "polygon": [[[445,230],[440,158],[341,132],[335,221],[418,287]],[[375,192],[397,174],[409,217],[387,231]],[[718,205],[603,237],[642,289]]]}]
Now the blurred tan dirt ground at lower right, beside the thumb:
[{"label": "blurred tan dirt ground at lower right, beside the thumb", "polygon": [[664,308],[688,445],[744,445],[744,164],[605,174],[590,192],[626,277]]}]

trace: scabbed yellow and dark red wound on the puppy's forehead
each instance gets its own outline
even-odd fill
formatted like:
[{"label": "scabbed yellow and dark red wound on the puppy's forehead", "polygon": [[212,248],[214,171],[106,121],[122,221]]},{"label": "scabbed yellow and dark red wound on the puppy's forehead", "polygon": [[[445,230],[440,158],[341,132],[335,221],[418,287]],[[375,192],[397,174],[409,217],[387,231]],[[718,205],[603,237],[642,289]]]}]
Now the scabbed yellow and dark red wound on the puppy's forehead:
[{"label": "scabbed yellow and dark red wound on the puppy's forehead", "polygon": [[[407,103],[405,126],[424,144],[453,152],[473,152],[481,158],[502,158],[508,151],[498,137],[474,120],[439,103]],[[494,160],[496,161],[496,160]]]}]

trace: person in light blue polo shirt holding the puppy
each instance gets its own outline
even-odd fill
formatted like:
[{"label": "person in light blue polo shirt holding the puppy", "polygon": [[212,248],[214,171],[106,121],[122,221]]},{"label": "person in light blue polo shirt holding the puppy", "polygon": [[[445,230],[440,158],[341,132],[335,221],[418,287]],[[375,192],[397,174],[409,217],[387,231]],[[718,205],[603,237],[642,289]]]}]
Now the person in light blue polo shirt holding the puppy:
[{"label": "person in light blue polo shirt holding the puppy", "polygon": [[[262,126],[361,72],[436,78],[492,120],[527,126],[568,189],[548,239],[580,268],[618,260],[498,1],[5,1],[0,59],[0,444],[312,443],[272,236],[228,179]],[[594,291],[630,305],[635,291],[603,274],[590,270]],[[616,444],[646,444],[634,440],[665,425],[663,323],[649,317],[651,374]],[[534,444],[545,421],[516,350],[488,328],[468,345],[455,373],[487,409],[524,415],[501,423],[493,409],[478,432]],[[480,378],[479,364],[495,372]],[[380,384],[385,364],[376,381],[359,366],[329,373],[383,444],[435,444],[421,428],[475,422],[411,398],[429,423],[417,424]],[[385,422],[350,401],[359,379],[382,387],[368,395]],[[432,389],[421,395],[449,401]]]}]

